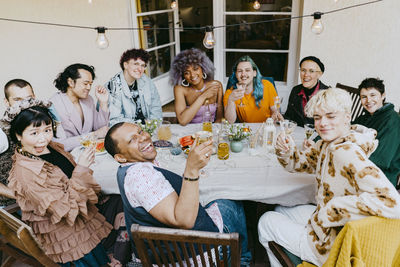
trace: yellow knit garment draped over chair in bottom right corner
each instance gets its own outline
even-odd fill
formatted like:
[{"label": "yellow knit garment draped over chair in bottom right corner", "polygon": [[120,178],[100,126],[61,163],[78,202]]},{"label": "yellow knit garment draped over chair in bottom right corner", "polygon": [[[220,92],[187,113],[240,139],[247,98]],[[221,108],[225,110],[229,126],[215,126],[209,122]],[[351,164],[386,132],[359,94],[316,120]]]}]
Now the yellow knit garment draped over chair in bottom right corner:
[{"label": "yellow knit garment draped over chair in bottom right corner", "polygon": [[346,223],[323,265],[330,266],[400,266],[400,219],[370,216]]}]

